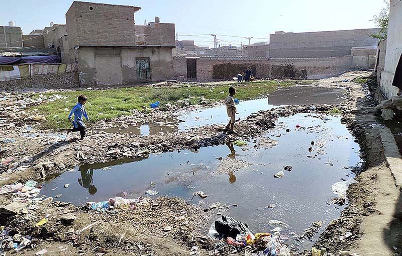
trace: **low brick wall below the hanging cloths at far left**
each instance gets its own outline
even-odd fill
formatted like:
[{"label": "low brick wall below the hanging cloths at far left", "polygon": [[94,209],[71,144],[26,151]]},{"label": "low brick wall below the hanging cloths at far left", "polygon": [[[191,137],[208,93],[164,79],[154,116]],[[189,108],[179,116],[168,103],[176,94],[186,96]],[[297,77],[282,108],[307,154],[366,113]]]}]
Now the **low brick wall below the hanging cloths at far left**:
[{"label": "low brick wall below the hanging cloths at far left", "polygon": [[26,89],[67,89],[79,87],[78,72],[33,75],[23,79],[0,81],[0,88],[8,91]]}]

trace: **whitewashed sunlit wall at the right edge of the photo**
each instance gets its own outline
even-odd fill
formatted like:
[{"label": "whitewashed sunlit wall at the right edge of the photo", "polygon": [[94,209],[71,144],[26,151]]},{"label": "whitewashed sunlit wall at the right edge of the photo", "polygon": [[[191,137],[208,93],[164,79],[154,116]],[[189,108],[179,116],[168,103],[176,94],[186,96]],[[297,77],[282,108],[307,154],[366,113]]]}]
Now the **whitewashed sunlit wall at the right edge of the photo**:
[{"label": "whitewashed sunlit wall at the right edge of the photo", "polygon": [[402,54],[402,4],[391,0],[384,70],[381,72],[380,90],[388,99],[396,96],[398,89],[392,86],[396,65]]}]

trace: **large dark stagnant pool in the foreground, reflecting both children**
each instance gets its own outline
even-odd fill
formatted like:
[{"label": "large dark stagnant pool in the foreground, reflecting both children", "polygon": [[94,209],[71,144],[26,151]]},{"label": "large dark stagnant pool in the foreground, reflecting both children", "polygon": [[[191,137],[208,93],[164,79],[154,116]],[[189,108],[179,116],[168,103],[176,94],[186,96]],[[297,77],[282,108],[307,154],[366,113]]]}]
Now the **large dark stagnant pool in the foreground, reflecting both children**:
[{"label": "large dark stagnant pool in the foreground, reflecting both children", "polygon": [[[360,165],[359,145],[340,118],[323,119],[310,114],[280,118],[277,128],[264,134],[264,138],[277,141],[276,146],[268,149],[256,149],[249,141],[242,148],[221,145],[197,152],[150,155],[138,161],[123,159],[82,165],[44,183],[41,193],[62,194],[55,200],[81,205],[126,192],[128,198],[145,196],[148,189],[158,191],[158,196],[183,199],[190,199],[192,193],[201,190],[211,196],[204,200],[195,197],[191,203],[235,203],[238,207],[231,207],[227,214],[247,222],[253,232],[269,231],[275,227],[269,226],[269,219],[277,219],[289,225],[283,231],[285,234],[303,233],[314,221],[327,225],[340,215],[342,207],[327,204],[335,197],[331,185],[352,178],[350,169]],[[295,128],[297,124],[301,128]],[[290,132],[285,131],[287,128]],[[232,174],[218,174],[218,157],[252,164]],[[273,178],[286,165],[292,165],[293,170],[284,171],[281,179]],[[67,189],[63,188],[66,183],[70,183]],[[270,204],[275,207],[267,208]],[[311,244],[305,242],[303,247]]]}]

